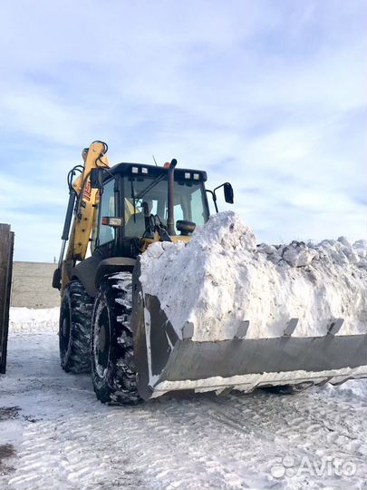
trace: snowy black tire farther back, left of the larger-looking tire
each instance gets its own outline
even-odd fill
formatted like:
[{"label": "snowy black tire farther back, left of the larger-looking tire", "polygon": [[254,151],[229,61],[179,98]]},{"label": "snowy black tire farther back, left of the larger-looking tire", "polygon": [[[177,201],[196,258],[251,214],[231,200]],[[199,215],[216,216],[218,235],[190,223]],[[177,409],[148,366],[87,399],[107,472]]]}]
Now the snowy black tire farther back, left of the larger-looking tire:
[{"label": "snowy black tire farther back, left of the larger-looking tire", "polygon": [[92,309],[93,299],[82,283],[72,280],[63,292],[59,324],[61,366],[66,372],[91,372]]}]

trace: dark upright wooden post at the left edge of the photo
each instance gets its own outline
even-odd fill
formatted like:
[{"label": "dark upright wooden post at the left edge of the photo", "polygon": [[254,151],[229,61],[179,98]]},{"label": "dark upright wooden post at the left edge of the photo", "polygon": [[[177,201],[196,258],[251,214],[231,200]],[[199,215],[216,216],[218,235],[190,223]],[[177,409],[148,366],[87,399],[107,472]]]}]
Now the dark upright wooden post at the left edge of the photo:
[{"label": "dark upright wooden post at the left edge of the photo", "polygon": [[9,327],[10,289],[12,286],[14,232],[0,223],[0,373],[5,374]]}]

